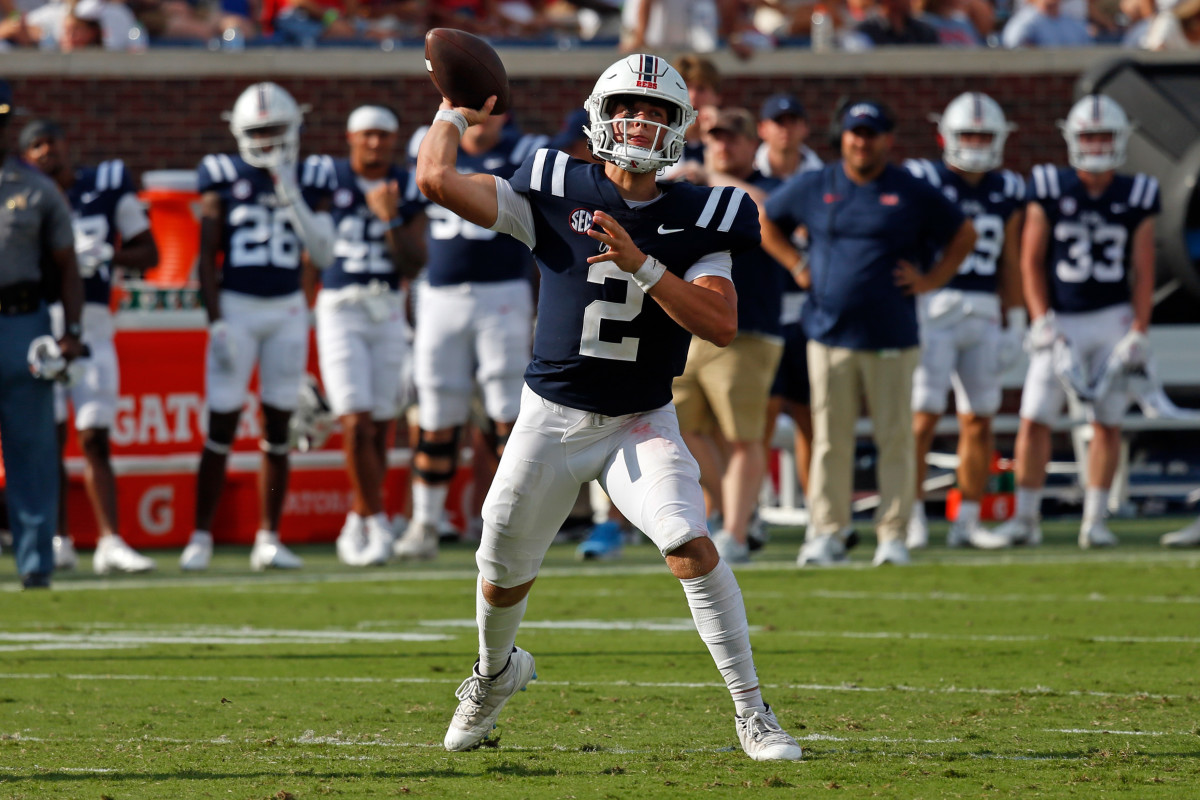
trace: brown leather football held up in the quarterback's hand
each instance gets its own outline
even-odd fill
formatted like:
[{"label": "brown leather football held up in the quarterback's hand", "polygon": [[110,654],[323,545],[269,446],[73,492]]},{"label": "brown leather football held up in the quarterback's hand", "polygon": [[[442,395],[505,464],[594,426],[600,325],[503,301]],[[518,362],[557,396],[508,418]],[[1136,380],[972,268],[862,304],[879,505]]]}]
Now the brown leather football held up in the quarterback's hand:
[{"label": "brown leather football held up in the quarterback's hand", "polygon": [[492,46],[463,30],[434,28],[425,35],[425,68],[443,97],[480,108],[496,95],[493,114],[509,108],[509,76]]}]

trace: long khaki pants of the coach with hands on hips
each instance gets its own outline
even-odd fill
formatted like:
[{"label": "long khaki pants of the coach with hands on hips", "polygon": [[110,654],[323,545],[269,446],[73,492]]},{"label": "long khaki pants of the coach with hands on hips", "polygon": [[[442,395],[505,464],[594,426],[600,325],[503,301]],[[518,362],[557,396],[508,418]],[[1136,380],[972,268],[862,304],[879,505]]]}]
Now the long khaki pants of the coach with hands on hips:
[{"label": "long khaki pants of the coach with hands on hips", "polygon": [[812,384],[812,471],[809,537],[848,528],[854,489],[854,425],[860,398],[875,427],[878,541],[904,540],[916,495],[912,373],[919,348],[850,350],[809,342]]}]

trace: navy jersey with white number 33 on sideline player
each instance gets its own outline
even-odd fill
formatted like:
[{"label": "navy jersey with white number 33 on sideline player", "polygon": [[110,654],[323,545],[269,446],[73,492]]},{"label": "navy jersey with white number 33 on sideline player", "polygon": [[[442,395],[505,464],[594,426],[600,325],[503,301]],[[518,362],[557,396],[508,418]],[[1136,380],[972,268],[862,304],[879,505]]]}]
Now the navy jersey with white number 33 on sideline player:
[{"label": "navy jersey with white number 33 on sideline player", "polygon": [[1133,235],[1159,211],[1158,181],[1141,173],[1114,175],[1099,197],[1091,197],[1073,168],[1039,164],[1026,199],[1042,206],[1050,229],[1050,307],[1084,312],[1129,302]]}]

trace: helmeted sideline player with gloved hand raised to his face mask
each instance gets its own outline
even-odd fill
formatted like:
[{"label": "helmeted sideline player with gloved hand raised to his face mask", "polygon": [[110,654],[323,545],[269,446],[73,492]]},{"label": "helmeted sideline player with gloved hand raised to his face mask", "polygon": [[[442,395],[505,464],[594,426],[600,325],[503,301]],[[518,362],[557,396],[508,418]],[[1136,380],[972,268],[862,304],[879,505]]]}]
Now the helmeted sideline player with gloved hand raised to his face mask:
[{"label": "helmeted sideline player with gloved hand raised to his face mask", "polygon": [[[308,355],[300,253],[307,249],[319,269],[334,259],[328,196],[302,193],[299,186],[301,116],[287,90],[274,83],[253,84],[229,114],[238,155],[205,156],[197,169],[200,291],[209,314],[209,426],[196,479],[196,530],[180,555],[184,570],[205,570],[212,558],[212,518],[256,363],[264,435],[250,566],[301,566],[278,534],[288,489],[288,420],[299,402]],[[218,253],[224,257],[220,272]]]}]

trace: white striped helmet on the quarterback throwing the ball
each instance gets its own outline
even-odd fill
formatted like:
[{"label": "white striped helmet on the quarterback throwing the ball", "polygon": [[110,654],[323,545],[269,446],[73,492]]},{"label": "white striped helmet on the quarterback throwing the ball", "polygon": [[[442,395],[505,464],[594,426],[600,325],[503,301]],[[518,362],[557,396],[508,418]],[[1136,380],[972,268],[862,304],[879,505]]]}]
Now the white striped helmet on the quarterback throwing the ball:
[{"label": "white striped helmet on the quarterback throwing the ball", "polygon": [[[617,142],[612,108],[616,100],[629,96],[658,101],[671,109],[667,125],[646,122],[659,128],[654,136],[656,148],[635,148]],[[688,100],[683,76],[656,55],[629,55],[605,70],[583,108],[588,113],[586,133],[593,155],[630,173],[650,173],[679,161],[684,132],[696,121],[696,109]]]}]

